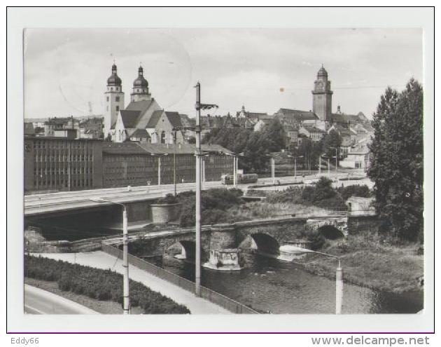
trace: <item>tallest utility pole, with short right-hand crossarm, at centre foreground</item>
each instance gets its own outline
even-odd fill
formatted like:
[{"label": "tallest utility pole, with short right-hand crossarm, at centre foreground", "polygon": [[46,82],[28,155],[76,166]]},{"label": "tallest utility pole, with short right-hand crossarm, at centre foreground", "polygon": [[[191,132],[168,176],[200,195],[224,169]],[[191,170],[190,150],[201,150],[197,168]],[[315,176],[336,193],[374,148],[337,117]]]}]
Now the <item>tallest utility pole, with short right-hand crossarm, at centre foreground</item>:
[{"label": "tallest utility pole, with short right-hand crossarm, at centre foreground", "polygon": [[201,296],[201,161],[202,161],[202,150],[201,150],[201,109],[212,109],[214,107],[218,108],[215,104],[202,104],[201,103],[201,83],[196,83],[196,104],[195,109],[197,111],[196,116],[196,257],[195,257],[195,295],[197,297]]}]

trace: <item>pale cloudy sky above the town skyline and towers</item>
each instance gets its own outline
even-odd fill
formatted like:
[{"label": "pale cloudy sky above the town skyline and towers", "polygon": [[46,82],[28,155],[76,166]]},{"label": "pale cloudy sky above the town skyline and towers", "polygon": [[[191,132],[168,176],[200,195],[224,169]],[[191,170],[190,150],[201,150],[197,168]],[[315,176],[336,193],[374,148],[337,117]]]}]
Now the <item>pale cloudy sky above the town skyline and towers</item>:
[{"label": "pale cloudy sky above the town skyline and towers", "polygon": [[422,82],[420,29],[27,29],[25,118],[103,113],[113,59],[126,106],[138,67],[161,107],[194,116],[197,81],[216,114],[312,109],[324,64],[332,111],[370,117],[386,86]]}]

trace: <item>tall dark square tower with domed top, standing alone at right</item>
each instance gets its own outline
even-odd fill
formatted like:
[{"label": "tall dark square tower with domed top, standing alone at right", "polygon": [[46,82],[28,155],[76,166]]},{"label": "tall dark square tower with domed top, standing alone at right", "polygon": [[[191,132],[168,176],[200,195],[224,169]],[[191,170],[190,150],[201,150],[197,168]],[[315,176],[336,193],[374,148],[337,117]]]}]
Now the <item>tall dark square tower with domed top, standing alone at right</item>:
[{"label": "tall dark square tower with domed top, standing alone at right", "polygon": [[330,81],[328,81],[328,72],[323,64],[318,70],[317,79],[314,81],[314,90],[312,93],[312,111],[321,121],[329,122],[332,112],[332,90]]}]

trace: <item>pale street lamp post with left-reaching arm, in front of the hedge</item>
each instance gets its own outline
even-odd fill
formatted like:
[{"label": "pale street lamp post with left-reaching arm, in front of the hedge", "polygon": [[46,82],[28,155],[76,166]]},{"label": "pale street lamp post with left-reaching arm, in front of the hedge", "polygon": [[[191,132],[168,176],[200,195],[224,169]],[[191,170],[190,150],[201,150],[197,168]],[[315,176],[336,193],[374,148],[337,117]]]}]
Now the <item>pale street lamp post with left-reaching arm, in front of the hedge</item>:
[{"label": "pale street lamp post with left-reaching arm, in front of the hedge", "polygon": [[90,198],[94,203],[109,203],[123,207],[123,313],[130,314],[130,290],[129,290],[129,235],[127,227],[127,210],[122,203],[115,203],[104,198]]}]

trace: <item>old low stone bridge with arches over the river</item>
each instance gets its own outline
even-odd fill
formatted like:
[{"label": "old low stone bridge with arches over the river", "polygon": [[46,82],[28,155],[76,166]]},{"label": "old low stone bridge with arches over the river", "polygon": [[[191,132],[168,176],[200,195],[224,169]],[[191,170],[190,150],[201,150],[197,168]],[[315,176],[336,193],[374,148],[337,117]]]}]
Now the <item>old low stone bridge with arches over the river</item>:
[{"label": "old low stone bridge with arches over the river", "polygon": [[[250,239],[259,251],[277,254],[280,246],[305,238],[308,232],[314,230],[323,232],[325,237],[337,238],[377,229],[377,216],[289,217],[214,224],[202,227],[202,259],[208,259],[210,250],[242,247]],[[146,233],[139,237],[136,243],[130,243],[129,251],[141,257],[160,256],[176,243],[183,247],[187,257],[193,258],[195,229]]]}]

